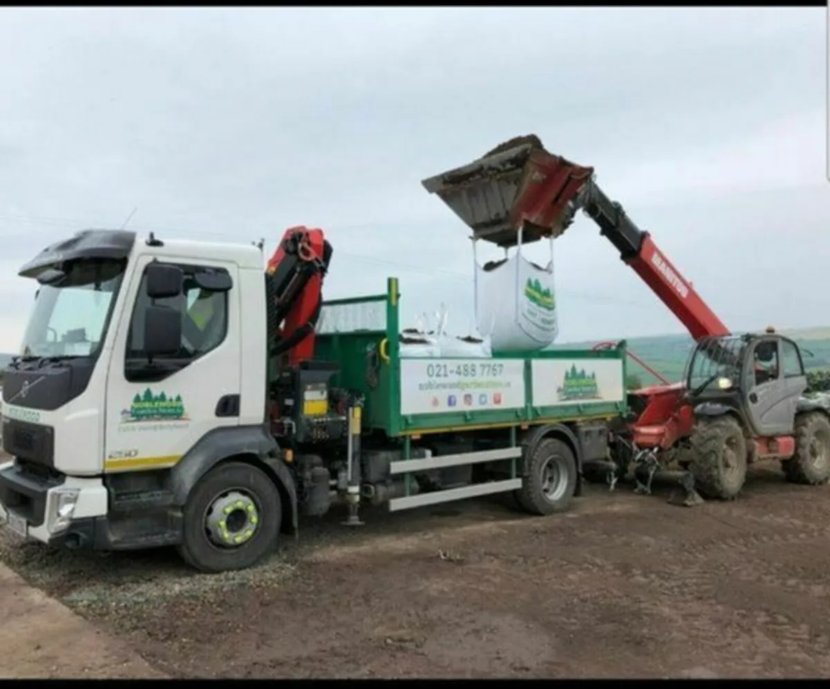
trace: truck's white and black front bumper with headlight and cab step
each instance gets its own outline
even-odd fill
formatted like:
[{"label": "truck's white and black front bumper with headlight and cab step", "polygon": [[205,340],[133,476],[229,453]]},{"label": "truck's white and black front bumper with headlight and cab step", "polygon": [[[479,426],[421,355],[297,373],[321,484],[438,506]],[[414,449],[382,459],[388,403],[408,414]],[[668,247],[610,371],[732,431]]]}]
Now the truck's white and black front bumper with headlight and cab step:
[{"label": "truck's white and black front bumper with headlight and cab step", "polygon": [[48,545],[137,550],[181,540],[180,510],[144,503],[142,510],[113,513],[100,476],[32,476],[27,467],[6,462],[0,464],[0,507],[8,526],[13,520],[27,538]]}]

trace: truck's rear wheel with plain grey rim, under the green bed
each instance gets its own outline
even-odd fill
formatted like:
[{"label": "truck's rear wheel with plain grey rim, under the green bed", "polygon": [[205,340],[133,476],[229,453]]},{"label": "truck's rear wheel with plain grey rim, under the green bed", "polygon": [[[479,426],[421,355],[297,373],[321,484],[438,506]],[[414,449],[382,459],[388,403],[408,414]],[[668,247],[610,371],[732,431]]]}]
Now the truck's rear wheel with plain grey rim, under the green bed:
[{"label": "truck's rear wheel with plain grey rim, under the green bed", "polygon": [[514,495],[531,515],[551,515],[568,509],[576,488],[574,452],[561,440],[546,437],[525,457],[522,486]]}]

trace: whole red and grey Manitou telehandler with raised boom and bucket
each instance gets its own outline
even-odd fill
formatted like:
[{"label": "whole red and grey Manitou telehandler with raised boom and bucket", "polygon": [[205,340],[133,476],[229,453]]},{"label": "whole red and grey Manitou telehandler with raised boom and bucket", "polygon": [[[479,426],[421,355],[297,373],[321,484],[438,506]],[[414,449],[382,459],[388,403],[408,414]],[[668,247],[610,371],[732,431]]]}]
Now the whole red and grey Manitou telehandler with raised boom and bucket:
[{"label": "whole red and grey Manitou telehandler with raised boom and bucket", "polygon": [[[695,340],[683,380],[629,393],[630,412],[615,433],[613,476],[631,463],[647,476],[675,476],[683,504],[705,496],[729,500],[744,486],[749,463],[778,459],[789,481],[817,485],[830,479],[830,414],[803,398],[807,388],[798,345],[768,328],[732,335],[689,281],[610,200],[593,168],[544,149],[530,136],[510,139],[481,159],[424,180],[474,236],[499,246],[559,237],[582,209],[620,257],[674,313]],[[671,472],[674,473],[674,472]]]}]

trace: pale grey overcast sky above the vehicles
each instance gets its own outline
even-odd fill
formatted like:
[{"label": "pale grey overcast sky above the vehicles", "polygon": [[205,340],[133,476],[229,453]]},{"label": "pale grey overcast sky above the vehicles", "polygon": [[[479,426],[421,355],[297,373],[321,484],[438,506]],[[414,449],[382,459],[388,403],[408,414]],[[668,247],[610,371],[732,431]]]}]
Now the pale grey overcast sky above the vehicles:
[{"label": "pale grey overcast sky above the vehicles", "polygon": [[[593,165],[735,330],[828,325],[827,10],[0,10],[0,350],[17,267],[84,227],[323,227],[329,297],[400,278],[472,318],[466,227],[420,185],[539,134]],[[681,332],[587,217],[560,341]],[[542,252],[544,256],[544,252]]]}]

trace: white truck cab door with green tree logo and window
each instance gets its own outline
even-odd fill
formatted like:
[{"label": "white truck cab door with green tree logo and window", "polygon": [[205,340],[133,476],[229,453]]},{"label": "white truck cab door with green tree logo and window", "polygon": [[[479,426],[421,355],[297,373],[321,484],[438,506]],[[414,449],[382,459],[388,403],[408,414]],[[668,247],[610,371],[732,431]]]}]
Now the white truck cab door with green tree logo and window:
[{"label": "white truck cab door with green tree logo and window", "polygon": [[[237,266],[171,262],[184,271],[183,293],[157,299],[155,305],[180,312],[181,349],[149,361],[143,349],[144,315],[151,303],[144,286],[149,260],[142,258],[136,266],[115,339],[107,384],[105,472],[172,467],[207,432],[239,423]],[[226,272],[231,290],[200,290],[193,275],[206,270]]]}]

